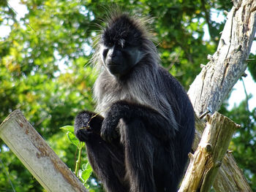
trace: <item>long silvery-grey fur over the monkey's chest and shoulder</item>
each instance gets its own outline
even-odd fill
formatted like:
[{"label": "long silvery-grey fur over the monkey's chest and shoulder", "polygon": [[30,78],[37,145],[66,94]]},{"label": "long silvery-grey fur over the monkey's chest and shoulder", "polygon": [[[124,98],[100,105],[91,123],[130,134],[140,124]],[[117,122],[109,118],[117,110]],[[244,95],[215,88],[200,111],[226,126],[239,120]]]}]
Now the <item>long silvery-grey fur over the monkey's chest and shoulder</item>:
[{"label": "long silvery-grey fur over the monkey's chest and shoulder", "polygon": [[[108,112],[108,107],[115,101],[126,100],[143,104],[157,110],[165,118],[173,121],[173,127],[178,125],[173,116],[173,110],[165,96],[165,86],[162,85],[159,75],[159,56],[154,43],[145,39],[142,45],[143,58],[132,69],[126,81],[118,80],[110,74],[102,62],[102,48],[99,44],[99,53],[95,55],[94,62],[99,69],[99,77],[94,84],[94,99],[97,101],[97,112],[102,116]],[[145,58],[145,59],[144,59]]]}]

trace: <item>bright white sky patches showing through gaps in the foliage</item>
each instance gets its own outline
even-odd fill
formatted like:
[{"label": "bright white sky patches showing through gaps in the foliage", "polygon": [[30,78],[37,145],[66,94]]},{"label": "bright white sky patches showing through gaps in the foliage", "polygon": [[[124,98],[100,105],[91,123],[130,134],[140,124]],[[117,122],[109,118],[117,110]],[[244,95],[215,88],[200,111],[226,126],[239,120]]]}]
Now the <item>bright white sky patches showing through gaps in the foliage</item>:
[{"label": "bright white sky patches showing through gaps in the foliage", "polygon": [[[10,7],[15,9],[16,12],[16,18],[20,20],[20,18],[23,18],[24,15],[28,12],[25,5],[19,4],[20,0],[10,0],[8,1]],[[216,22],[221,23],[223,20],[225,20],[225,15],[222,13],[217,12],[216,10],[211,10],[211,18],[214,19]],[[4,25],[0,26],[0,37],[6,37],[10,33],[10,27],[5,26],[7,23],[4,23]],[[9,23],[11,24],[11,23]],[[207,26],[205,28],[205,36],[204,39],[209,39],[208,34],[208,28]],[[252,49],[251,53],[256,54],[256,41],[252,43]],[[243,77],[245,88],[247,94],[252,94],[252,99],[249,99],[249,110],[252,110],[256,107],[256,83],[252,80],[251,74],[249,74],[249,71],[246,70],[247,77]],[[231,110],[234,105],[238,106],[238,104],[246,99],[246,94],[244,92],[244,85],[241,80],[238,80],[236,85],[233,87],[233,91],[231,93],[230,99],[228,100],[229,107],[227,107],[228,110]]]}]

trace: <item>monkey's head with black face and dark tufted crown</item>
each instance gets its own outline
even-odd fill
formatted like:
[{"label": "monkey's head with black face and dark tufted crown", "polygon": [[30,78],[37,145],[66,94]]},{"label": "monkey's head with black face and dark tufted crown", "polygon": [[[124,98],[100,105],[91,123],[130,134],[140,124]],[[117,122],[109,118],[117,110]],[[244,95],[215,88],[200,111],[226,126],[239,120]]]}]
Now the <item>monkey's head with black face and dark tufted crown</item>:
[{"label": "monkey's head with black face and dark tufted crown", "polygon": [[125,15],[113,20],[102,34],[101,58],[108,71],[121,77],[132,70],[143,58],[142,32]]}]

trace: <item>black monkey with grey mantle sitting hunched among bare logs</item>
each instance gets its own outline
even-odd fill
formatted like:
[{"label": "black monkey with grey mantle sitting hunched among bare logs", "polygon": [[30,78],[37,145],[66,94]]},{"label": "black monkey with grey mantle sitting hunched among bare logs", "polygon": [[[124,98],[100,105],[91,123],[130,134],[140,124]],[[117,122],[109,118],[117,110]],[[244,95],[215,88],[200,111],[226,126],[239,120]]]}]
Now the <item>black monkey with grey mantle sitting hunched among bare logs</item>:
[{"label": "black monkey with grey mantle sitting hunched among bare logs", "polygon": [[75,118],[94,172],[106,191],[177,191],[195,134],[187,93],[159,65],[145,20],[113,15],[97,45],[94,97],[102,116]]}]

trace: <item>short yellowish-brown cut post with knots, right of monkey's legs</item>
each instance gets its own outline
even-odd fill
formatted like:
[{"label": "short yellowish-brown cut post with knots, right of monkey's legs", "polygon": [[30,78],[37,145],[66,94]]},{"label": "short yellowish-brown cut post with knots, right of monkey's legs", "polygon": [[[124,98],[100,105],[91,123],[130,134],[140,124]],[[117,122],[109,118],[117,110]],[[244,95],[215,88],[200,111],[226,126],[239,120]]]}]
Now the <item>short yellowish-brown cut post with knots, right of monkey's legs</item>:
[{"label": "short yellowish-brown cut post with knots, right of monkey's legs", "polygon": [[207,192],[211,189],[233,132],[238,127],[218,112],[208,116],[200,144],[194,155],[189,155],[190,164],[178,192]]}]

